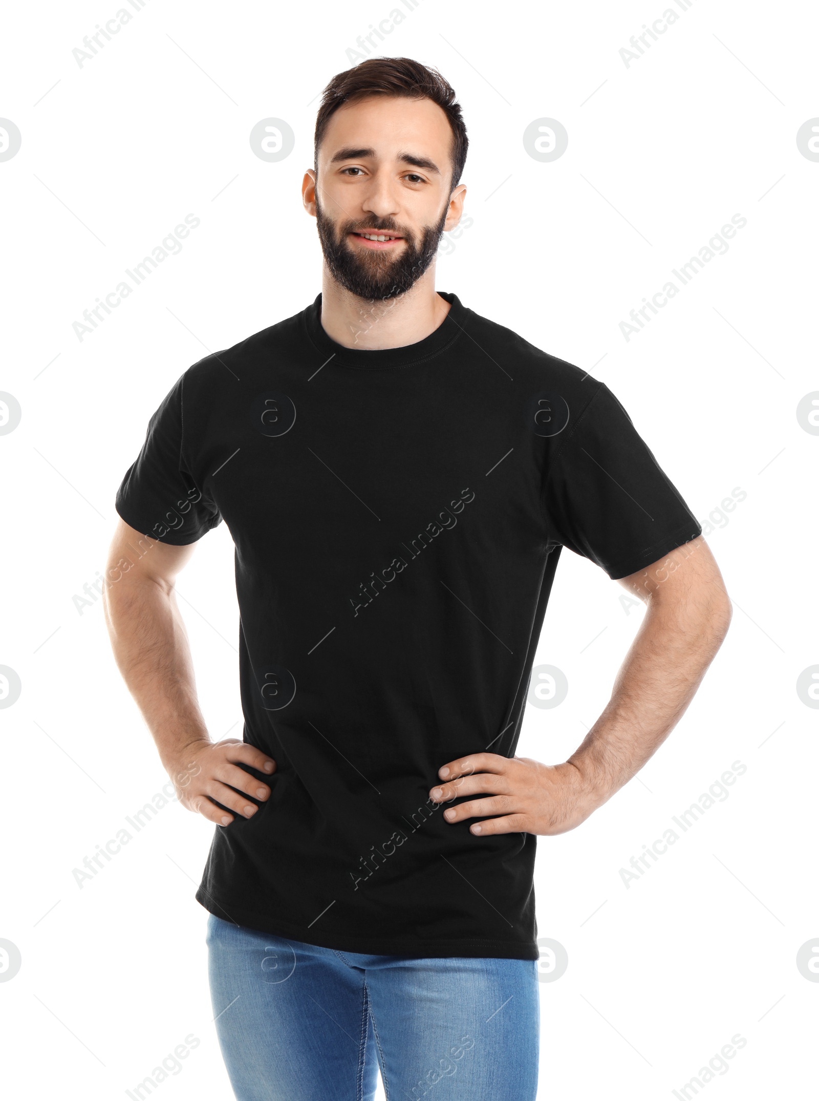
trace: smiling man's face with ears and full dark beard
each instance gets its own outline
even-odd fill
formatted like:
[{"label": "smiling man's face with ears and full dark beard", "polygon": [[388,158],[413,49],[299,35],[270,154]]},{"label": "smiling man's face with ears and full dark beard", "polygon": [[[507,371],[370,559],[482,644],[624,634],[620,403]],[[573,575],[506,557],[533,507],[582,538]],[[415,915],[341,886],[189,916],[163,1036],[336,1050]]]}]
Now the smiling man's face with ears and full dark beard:
[{"label": "smiling man's face with ears and full dark beard", "polygon": [[316,215],[327,266],[351,294],[404,294],[434,261],[466,192],[459,185],[450,199],[451,143],[447,117],[430,99],[373,96],[330,118],[315,190],[316,174],[305,178],[305,206]]}]

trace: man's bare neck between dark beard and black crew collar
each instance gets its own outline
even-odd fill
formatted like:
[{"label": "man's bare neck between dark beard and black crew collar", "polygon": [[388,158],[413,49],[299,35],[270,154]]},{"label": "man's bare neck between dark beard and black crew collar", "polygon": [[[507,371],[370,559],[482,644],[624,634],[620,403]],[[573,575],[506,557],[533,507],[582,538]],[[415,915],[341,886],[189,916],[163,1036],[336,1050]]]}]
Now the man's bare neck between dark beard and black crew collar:
[{"label": "man's bare neck between dark beard and black crew collar", "polygon": [[378,351],[417,344],[434,333],[448,313],[449,303],[435,290],[435,264],[406,294],[386,299],[350,294],[324,268],[321,327],[345,348]]}]

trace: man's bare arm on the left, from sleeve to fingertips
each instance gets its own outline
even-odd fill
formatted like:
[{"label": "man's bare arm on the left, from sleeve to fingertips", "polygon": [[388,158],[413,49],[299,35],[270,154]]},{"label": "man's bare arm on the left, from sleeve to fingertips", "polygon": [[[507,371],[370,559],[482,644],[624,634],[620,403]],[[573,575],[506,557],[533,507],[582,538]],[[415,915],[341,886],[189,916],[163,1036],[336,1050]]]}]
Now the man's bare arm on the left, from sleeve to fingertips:
[{"label": "man's bare arm on the left, from sleeve to fingertips", "polygon": [[[275,762],[236,738],[211,742],[196,697],[190,647],[174,595],[176,575],[190,558],[194,544],[149,542],[138,557],[133,547],[144,547],[145,537],[119,521],[103,589],[113,655],[153,734],[179,803],[209,821],[228,826],[234,815],[251,818],[258,809],[242,793],[260,802],[270,796],[270,787],[239,765],[272,773]],[[222,810],[215,799],[231,813]]]}]

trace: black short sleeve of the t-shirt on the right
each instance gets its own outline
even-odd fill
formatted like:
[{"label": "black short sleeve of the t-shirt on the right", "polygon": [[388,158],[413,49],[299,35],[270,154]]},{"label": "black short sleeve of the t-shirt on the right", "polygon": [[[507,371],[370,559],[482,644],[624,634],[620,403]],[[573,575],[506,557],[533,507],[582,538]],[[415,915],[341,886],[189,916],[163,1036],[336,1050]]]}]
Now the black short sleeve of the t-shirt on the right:
[{"label": "black short sleeve of the t-shirt on the right", "polygon": [[545,472],[549,544],[590,558],[614,580],[702,533],[604,383],[566,430]]}]

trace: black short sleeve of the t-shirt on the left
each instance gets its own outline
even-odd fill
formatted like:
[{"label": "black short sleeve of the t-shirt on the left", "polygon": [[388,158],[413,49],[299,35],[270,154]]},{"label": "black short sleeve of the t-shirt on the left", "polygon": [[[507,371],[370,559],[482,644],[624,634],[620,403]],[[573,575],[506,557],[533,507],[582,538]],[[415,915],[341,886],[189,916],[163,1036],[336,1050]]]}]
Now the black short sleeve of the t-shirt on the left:
[{"label": "black short sleeve of the t-shirt on the left", "polygon": [[161,543],[184,546],[221,522],[216,503],[197,486],[183,457],[184,375],[148,424],[145,442],[117,491],[119,515]]}]

